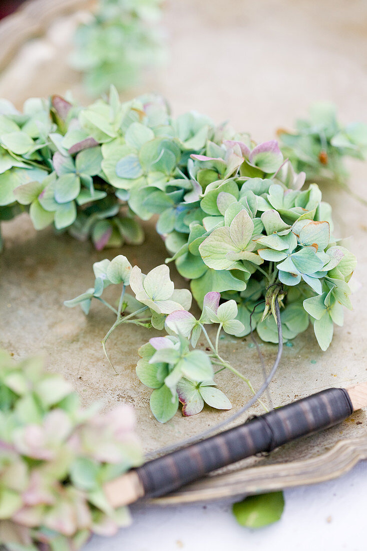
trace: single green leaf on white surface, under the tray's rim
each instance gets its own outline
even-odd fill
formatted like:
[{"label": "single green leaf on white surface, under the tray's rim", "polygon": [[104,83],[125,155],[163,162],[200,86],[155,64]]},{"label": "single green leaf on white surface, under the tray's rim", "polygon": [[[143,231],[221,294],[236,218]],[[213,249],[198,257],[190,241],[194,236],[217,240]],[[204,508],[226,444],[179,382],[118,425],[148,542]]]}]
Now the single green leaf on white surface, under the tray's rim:
[{"label": "single green leaf on white surface, under the tray's rim", "polygon": [[233,514],[241,526],[262,528],[277,522],[283,514],[283,492],[250,495],[233,505]]}]

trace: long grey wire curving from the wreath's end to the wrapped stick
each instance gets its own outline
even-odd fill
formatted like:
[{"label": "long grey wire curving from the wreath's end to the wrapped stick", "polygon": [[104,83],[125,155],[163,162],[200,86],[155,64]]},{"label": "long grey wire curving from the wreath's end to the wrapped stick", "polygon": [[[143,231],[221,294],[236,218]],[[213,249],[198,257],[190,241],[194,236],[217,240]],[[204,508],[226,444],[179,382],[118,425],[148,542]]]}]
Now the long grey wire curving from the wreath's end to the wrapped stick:
[{"label": "long grey wire curving from the wreath's end to the wrapped stick", "polygon": [[282,322],[280,321],[280,310],[279,310],[278,299],[275,300],[275,310],[277,315],[277,326],[278,326],[278,353],[271,371],[267,375],[265,381],[263,382],[259,390],[256,392],[256,394],[253,395],[252,398],[245,404],[245,406],[243,406],[241,409],[238,410],[238,412],[231,415],[229,419],[225,419],[225,421],[223,421],[222,423],[218,423],[217,425],[213,426],[211,429],[204,430],[202,433],[199,433],[195,436],[191,436],[187,440],[179,442],[179,444],[166,446],[161,448],[160,450],[155,450],[154,452],[150,452],[145,457],[146,459],[151,459],[157,455],[161,455],[162,453],[170,453],[172,451],[179,450],[180,448],[187,446],[188,444],[195,444],[199,440],[206,438],[207,436],[211,435],[214,432],[217,432],[218,430],[222,429],[225,425],[228,425],[229,423],[231,423],[232,421],[240,417],[242,413],[244,413],[247,409],[253,406],[253,404],[257,401],[257,399],[261,397],[262,393],[268,388],[274,375],[276,374],[276,371],[278,369],[280,359],[282,358],[282,353],[283,353],[283,331],[282,331]]}]

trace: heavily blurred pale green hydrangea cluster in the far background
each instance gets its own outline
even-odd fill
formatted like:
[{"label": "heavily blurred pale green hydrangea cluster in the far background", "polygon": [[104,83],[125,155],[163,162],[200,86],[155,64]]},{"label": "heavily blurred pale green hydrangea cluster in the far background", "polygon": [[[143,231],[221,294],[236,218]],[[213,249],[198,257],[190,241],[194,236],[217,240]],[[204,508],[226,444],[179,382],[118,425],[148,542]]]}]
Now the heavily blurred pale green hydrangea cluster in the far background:
[{"label": "heavily blurred pale green hydrangea cluster in the far background", "polygon": [[144,69],[163,61],[160,18],[160,0],[99,0],[91,21],[75,33],[70,60],[84,73],[89,94],[99,95],[110,84],[131,88]]}]

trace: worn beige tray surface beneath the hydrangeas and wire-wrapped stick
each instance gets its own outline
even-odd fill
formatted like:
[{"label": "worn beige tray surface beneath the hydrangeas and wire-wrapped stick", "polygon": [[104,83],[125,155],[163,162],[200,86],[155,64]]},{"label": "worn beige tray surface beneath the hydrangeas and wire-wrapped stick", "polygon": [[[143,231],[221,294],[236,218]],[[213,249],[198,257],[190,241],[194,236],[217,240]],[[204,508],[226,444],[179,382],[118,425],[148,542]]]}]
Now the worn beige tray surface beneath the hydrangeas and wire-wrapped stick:
[{"label": "worn beige tray surface beneath the hydrangeas and wire-wrapped stick", "polygon": [[[335,8],[331,0],[322,4],[306,0],[252,4],[240,0],[199,4],[172,0],[165,14],[171,61],[165,70],[149,75],[144,90],[163,93],[175,115],[195,109],[217,122],[229,120],[258,141],[273,138],[278,126],[290,127],[314,100],[336,102],[342,120],[367,122],[367,7],[358,0],[343,0]],[[19,106],[31,95],[72,89],[86,102],[77,75],[67,69],[60,54],[67,50],[79,17],[55,21],[45,39],[23,47],[0,78],[0,95]],[[350,169],[353,190],[367,197],[365,166],[353,163]],[[362,288],[353,297],[354,311],[346,312],[344,327],[336,327],[326,353],[319,349],[311,328],[285,347],[270,387],[274,406],[327,386],[367,379],[367,209],[332,185],[323,186],[323,193],[334,209],[336,235],[350,236],[348,246],[359,260],[355,279]],[[169,423],[160,425],[150,414],[150,391],[134,371],[136,350],[154,331],[117,329],[108,344],[121,372],[116,376],[99,342],[112,325],[113,315],[102,305],[93,304],[86,318],[77,309],[66,309],[62,302],[93,284],[91,264],[96,260],[123,253],[143,272],[162,263],[164,245],[152,227],[148,224],[147,241],[141,247],[98,253],[89,243],[80,244],[67,235],[55,236],[51,230],[36,233],[23,215],[3,224],[6,248],[0,257],[0,344],[17,358],[44,354],[48,368],[63,372],[86,404],[96,398],[104,399],[106,407],[118,401],[133,403],[146,450],[214,426],[233,410],[215,413],[207,409],[188,419],[177,413]],[[184,287],[184,280],[174,268],[171,270],[176,284]],[[223,355],[259,387],[262,372],[251,339],[225,337],[222,343]],[[262,344],[261,350],[270,367],[276,347]],[[218,376],[218,386],[228,392],[234,410],[249,398],[246,386],[229,373]],[[260,413],[260,407],[251,413]],[[310,456],[340,438],[366,434],[365,413],[359,412],[348,422],[278,450],[265,461]]]}]

